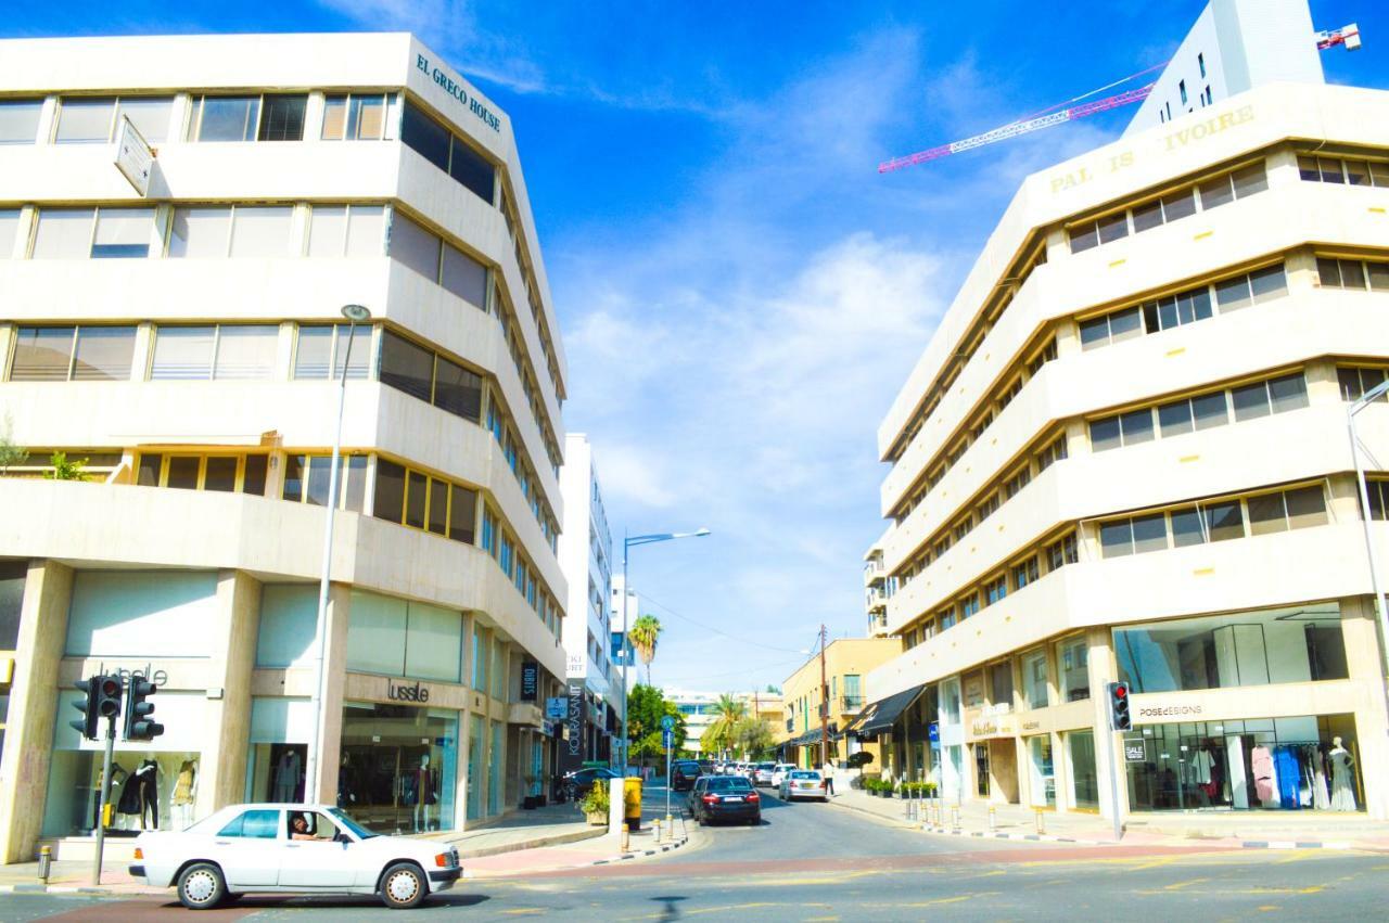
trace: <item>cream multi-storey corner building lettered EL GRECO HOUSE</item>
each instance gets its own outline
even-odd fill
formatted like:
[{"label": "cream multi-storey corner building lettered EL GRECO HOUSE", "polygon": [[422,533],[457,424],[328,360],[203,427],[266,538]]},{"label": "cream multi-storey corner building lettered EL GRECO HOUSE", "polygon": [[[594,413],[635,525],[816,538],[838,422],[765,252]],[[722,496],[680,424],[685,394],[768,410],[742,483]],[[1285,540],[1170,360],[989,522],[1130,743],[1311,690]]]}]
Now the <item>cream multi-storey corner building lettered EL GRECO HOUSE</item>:
[{"label": "cream multi-storey corner building lettered EL GRECO HOUSE", "polygon": [[94,830],[97,672],[165,726],[117,744],[113,836],[301,798],[315,718],[317,788],[374,829],[531,794],[565,366],[506,114],[408,35],[0,42],[0,176],[3,861]]}]

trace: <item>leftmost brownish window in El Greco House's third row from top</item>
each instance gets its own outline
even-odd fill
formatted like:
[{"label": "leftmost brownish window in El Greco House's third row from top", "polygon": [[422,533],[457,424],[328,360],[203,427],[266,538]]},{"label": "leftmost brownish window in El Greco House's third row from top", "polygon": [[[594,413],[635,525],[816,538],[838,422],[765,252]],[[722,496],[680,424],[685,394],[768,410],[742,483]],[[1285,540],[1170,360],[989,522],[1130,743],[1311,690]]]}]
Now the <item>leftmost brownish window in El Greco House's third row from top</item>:
[{"label": "leftmost brownish window in El Greco House's third row from top", "polygon": [[128,382],[133,326],[18,328],[11,382]]}]

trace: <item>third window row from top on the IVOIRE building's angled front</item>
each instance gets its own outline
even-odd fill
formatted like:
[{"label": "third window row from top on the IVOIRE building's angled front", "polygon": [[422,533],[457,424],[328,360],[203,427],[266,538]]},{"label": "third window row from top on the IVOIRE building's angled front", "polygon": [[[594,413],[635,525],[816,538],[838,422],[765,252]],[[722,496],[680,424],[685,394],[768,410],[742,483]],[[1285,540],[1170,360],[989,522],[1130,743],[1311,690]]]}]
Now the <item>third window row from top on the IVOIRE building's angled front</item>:
[{"label": "third window row from top on the IVOIRE building's angled front", "polygon": [[1307,380],[1301,372],[1296,372],[1092,419],[1090,448],[1103,452],[1153,441],[1158,432],[1163,439],[1171,439],[1199,429],[1224,426],[1229,422],[1231,412],[1236,422],[1242,422],[1301,407],[1307,407]]}]

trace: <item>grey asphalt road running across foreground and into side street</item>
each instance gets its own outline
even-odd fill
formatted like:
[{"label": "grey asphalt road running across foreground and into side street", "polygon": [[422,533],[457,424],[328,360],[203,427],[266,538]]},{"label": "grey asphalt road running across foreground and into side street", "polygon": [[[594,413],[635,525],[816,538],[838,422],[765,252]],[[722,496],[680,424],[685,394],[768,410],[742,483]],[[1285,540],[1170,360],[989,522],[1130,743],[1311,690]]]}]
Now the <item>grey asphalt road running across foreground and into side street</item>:
[{"label": "grey asphalt road running across foreground and into side street", "polygon": [[[649,790],[649,802],[664,793]],[[664,802],[663,802],[664,804]],[[1204,849],[1204,851],[1203,851]],[[422,919],[565,920],[1229,920],[1383,919],[1389,854],[1067,847],[922,834],[835,805],[764,795],[758,827],[696,831],[642,862],[464,881]],[[246,898],[203,920],[349,923],[371,899]],[[172,899],[3,895],[0,922],[186,919]],[[392,917],[401,919],[401,917]],[[404,917],[414,919],[414,917]]]}]

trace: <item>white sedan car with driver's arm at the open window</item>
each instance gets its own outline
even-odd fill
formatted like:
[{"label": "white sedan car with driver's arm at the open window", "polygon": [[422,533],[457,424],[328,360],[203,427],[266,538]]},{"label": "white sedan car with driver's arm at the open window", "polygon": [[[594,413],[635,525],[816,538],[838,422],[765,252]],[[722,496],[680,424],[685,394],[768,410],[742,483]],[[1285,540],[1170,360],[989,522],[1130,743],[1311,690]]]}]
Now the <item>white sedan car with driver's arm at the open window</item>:
[{"label": "white sedan car with driver's arm at the open window", "polygon": [[375,894],[392,909],[453,887],[458,851],[385,837],[329,805],[222,808],[181,833],[142,833],[131,874],[178,888],[192,911],[243,894]]}]

